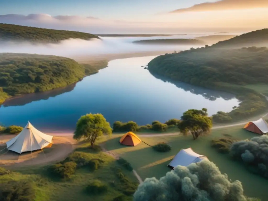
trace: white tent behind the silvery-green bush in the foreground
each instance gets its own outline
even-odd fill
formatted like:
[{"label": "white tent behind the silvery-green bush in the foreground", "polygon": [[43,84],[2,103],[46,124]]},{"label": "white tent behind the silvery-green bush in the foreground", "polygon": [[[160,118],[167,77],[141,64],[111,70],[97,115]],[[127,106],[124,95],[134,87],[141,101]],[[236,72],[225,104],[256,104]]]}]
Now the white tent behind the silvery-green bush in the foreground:
[{"label": "white tent behind the silvery-green bush in the foreground", "polygon": [[177,155],[172,159],[172,161],[169,163],[169,167],[174,169],[176,166],[188,166],[191,163],[197,163],[202,161],[203,159],[208,158],[206,156],[200,155],[195,153],[192,148],[188,149],[182,149],[180,150]]}]

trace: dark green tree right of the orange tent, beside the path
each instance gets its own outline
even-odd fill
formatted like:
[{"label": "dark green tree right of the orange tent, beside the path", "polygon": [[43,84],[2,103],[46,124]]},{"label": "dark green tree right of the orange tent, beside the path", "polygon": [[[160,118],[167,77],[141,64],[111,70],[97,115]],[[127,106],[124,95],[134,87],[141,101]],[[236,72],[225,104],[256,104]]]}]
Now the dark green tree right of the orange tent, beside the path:
[{"label": "dark green tree right of the orange tent, beside the path", "polygon": [[181,121],[178,124],[180,131],[187,135],[191,133],[193,139],[197,139],[200,135],[209,133],[212,127],[212,121],[208,117],[207,109],[202,110],[190,109],[183,113]]}]

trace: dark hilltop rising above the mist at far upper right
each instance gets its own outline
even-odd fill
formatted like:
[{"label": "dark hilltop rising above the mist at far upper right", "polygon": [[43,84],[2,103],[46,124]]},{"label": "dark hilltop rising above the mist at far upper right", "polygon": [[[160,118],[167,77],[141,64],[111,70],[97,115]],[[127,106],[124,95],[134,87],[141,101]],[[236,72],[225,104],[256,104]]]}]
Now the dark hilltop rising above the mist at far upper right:
[{"label": "dark hilltop rising above the mist at far upper right", "polygon": [[249,33],[244,33],[229,40],[220,41],[213,47],[263,47],[268,44],[268,29],[260,29]]}]

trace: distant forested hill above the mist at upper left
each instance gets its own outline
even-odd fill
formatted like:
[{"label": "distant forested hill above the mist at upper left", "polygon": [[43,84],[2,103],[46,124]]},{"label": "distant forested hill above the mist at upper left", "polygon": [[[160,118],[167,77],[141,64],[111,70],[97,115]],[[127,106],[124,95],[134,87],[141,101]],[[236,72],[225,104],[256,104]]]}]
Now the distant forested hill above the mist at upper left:
[{"label": "distant forested hill above the mist at upper left", "polygon": [[14,24],[0,23],[0,39],[6,41],[30,41],[40,43],[57,43],[69,38],[79,38],[90,40],[98,36],[78,31],[64,31],[55,29],[43,29],[36,27],[26,27]]}]

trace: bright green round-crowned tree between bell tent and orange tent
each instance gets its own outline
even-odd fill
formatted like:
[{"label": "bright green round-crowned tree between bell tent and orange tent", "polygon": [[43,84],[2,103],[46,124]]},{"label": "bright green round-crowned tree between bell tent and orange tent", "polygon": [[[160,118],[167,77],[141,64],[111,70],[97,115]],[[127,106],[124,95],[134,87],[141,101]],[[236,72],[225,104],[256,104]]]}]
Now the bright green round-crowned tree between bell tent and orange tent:
[{"label": "bright green round-crowned tree between bell tent and orange tent", "polygon": [[109,122],[106,121],[102,114],[90,113],[81,116],[77,121],[73,138],[79,140],[81,137],[85,137],[93,147],[96,139],[102,136],[103,133],[107,135],[112,133]]}]

